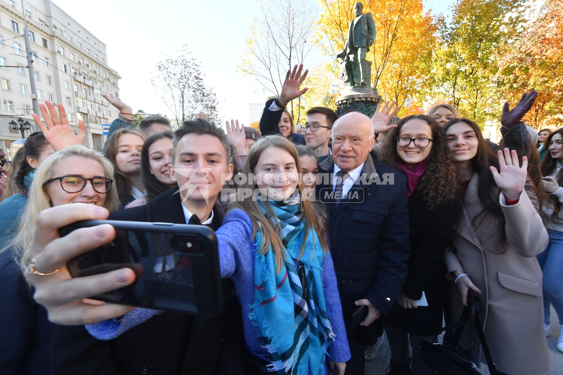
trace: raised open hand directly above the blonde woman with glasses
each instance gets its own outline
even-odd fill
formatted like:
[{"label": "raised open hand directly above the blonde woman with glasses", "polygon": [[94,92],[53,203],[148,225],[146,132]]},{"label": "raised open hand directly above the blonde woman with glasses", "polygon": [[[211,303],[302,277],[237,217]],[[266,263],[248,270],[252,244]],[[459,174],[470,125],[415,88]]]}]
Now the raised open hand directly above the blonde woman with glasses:
[{"label": "raised open hand directly above the blonde woman with glasses", "polygon": [[86,140],[86,123],[84,123],[84,120],[78,121],[78,134],[74,134],[74,130],[70,127],[69,119],[66,118],[65,106],[59,103],[57,107],[59,108],[59,114],[57,114],[53,103],[48,100],[45,101],[44,105],[39,105],[39,110],[41,110],[45,120],[44,124],[38,115],[32,115],[35,123],[43,132],[45,139],[53,147],[53,150],[59,151],[74,144],[84,144]]}]

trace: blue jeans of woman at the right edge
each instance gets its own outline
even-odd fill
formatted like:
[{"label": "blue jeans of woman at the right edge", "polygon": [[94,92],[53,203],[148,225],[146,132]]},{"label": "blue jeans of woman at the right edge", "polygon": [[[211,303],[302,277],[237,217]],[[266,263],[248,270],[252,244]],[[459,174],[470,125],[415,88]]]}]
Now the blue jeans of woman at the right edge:
[{"label": "blue jeans of woman at the right edge", "polygon": [[546,250],[538,255],[543,272],[543,317],[549,324],[549,304],[553,305],[563,324],[563,233],[547,230],[549,243]]}]

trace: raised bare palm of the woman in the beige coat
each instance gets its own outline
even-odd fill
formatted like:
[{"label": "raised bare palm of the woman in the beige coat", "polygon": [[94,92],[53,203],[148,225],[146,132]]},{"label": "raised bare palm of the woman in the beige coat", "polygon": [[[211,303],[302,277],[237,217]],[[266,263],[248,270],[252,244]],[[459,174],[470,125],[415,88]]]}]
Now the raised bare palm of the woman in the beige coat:
[{"label": "raised bare palm of the woman in the beige coat", "polygon": [[526,177],[528,177],[528,157],[522,157],[522,166],[520,166],[516,150],[510,152],[508,148],[505,148],[504,155],[501,150],[498,150],[497,154],[501,173],[494,166],[490,166],[494,182],[502,190],[504,197],[511,201],[517,200],[524,190]]}]

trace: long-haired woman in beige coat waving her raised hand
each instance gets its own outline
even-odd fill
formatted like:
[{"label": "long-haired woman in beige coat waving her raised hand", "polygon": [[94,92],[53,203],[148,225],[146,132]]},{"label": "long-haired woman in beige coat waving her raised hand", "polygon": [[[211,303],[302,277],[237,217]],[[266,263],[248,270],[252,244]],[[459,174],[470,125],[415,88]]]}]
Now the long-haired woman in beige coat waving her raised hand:
[{"label": "long-haired woman in beige coat waving her raised hand", "polygon": [[[544,336],[542,271],[536,256],[548,244],[538,189],[528,156],[490,150],[479,126],[454,119],[442,129],[463,185],[463,207],[446,249],[446,277],[454,282],[449,306],[459,319],[468,291],[499,374],[539,375],[549,369]],[[453,320],[455,321],[455,320]],[[459,342],[468,341],[466,326]],[[481,344],[472,344],[481,362]],[[483,359],[484,360],[484,359]]]}]

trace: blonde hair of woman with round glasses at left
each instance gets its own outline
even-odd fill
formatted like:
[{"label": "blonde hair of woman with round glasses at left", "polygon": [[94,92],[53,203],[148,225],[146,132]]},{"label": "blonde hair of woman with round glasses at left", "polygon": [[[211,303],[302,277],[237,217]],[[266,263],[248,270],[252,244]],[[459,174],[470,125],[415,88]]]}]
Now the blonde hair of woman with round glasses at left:
[{"label": "blonde hair of woman with round glasses at left", "polygon": [[[41,211],[52,207],[51,201],[43,188],[47,180],[53,178],[52,170],[55,165],[62,163],[65,157],[80,156],[87,159],[96,160],[104,169],[104,177],[113,180],[113,165],[101,153],[91,150],[84,146],[70,146],[64,150],[57,151],[48,156],[35,170],[32,186],[29,189],[28,202],[21,215],[21,221],[16,236],[8,241],[7,245],[0,252],[13,249],[13,257],[19,263],[21,271],[25,272],[31,261],[30,246],[35,230],[35,222]],[[115,184],[106,193],[104,207],[109,211],[115,211],[119,207],[117,190]]]}]

